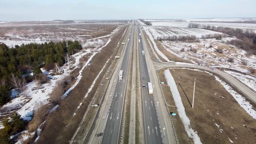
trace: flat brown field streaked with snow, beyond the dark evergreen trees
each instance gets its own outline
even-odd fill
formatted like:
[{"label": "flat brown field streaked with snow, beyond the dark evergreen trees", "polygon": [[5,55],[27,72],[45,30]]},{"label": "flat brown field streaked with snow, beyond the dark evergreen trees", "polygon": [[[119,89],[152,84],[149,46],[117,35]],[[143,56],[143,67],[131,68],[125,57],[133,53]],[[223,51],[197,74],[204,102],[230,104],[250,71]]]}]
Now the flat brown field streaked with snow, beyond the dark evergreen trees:
[{"label": "flat brown field streaked with snow, beyond the dark evergreen trees", "polygon": [[[80,40],[110,35],[125,23],[69,23],[69,24],[0,24],[0,42],[10,48],[22,43],[44,43],[49,41]],[[107,36],[107,37],[108,37]]]}]

